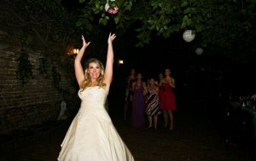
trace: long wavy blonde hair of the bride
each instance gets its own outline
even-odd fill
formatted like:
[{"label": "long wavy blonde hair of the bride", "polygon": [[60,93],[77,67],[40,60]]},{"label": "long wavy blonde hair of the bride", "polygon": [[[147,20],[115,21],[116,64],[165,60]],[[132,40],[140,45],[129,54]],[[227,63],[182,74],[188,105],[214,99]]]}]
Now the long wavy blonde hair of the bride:
[{"label": "long wavy blonde hair of the bride", "polygon": [[103,78],[104,78],[104,66],[102,64],[102,62],[96,58],[90,58],[90,60],[86,61],[85,64],[85,70],[84,70],[84,81],[81,83],[80,85],[80,89],[87,89],[88,87],[90,87],[91,84],[91,79],[90,79],[90,74],[88,73],[88,68],[90,63],[96,63],[98,66],[101,67],[101,74],[100,76],[97,78],[96,82],[97,82],[97,86],[101,87],[101,88],[105,88],[106,87],[106,83],[103,83]]}]

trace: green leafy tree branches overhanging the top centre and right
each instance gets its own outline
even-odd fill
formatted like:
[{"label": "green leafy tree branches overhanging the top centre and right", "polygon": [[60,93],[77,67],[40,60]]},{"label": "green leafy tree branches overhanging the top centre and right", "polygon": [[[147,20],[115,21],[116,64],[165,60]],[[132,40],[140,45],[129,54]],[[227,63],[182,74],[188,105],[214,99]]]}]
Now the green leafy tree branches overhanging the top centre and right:
[{"label": "green leafy tree branches overhanging the top centre and right", "polygon": [[201,44],[255,52],[255,0],[115,0],[119,13],[114,15],[105,12],[105,0],[80,3],[86,4],[77,26],[93,30],[114,23],[118,32],[136,31],[140,47],[154,35],[168,38],[192,29]]}]

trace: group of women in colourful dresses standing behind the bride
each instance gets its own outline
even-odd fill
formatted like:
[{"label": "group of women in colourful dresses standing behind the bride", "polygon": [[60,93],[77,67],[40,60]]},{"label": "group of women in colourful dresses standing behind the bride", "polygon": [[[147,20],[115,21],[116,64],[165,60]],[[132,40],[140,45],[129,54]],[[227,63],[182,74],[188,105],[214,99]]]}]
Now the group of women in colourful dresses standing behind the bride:
[{"label": "group of women in colourful dresses standing behind the bride", "polygon": [[[124,119],[127,118],[131,107],[131,125],[134,128],[145,127],[145,116],[148,117],[148,129],[157,129],[158,115],[163,113],[165,128],[173,129],[172,111],[177,109],[175,80],[171,77],[171,70],[160,73],[159,78],[149,77],[147,83],[143,81],[143,74],[131,69],[127,78],[125,95]],[[169,126],[168,126],[169,125]]]}]

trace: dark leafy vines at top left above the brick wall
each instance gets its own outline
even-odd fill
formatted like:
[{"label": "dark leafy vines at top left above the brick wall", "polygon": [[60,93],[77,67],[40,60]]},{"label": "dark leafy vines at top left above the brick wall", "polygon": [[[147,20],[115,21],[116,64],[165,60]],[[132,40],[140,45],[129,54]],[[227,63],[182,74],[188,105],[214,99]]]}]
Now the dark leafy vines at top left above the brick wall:
[{"label": "dark leafy vines at top left above the brick wall", "polygon": [[27,44],[38,43],[45,53],[61,54],[70,38],[75,34],[74,21],[76,15],[65,9],[61,0],[5,0],[9,9],[9,26],[20,26],[34,39],[26,40]]}]

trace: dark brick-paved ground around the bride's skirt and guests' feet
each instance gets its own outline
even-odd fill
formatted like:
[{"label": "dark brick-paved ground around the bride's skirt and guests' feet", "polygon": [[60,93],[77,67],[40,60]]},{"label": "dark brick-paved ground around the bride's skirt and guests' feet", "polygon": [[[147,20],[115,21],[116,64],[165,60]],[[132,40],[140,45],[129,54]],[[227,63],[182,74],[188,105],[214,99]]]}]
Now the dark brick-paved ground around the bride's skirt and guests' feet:
[{"label": "dark brick-paved ground around the bride's skirt and guests' feet", "polygon": [[[159,129],[133,129],[122,120],[120,112],[111,112],[113,124],[131,150],[136,161],[250,161],[243,149],[224,146],[218,129],[207,122],[200,109],[174,113],[173,130],[163,128],[160,116]],[[19,147],[7,147],[1,152],[2,161],[55,161],[67,127],[55,129]],[[11,151],[10,151],[11,150]]]}]

